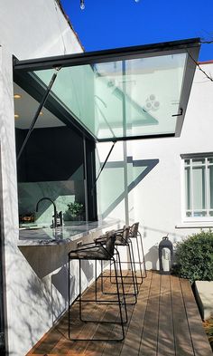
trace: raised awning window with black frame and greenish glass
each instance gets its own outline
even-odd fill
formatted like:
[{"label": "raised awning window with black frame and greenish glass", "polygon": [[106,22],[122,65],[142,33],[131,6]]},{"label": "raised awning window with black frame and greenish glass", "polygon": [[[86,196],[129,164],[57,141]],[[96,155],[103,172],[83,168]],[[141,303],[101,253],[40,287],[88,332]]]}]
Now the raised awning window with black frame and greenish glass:
[{"label": "raised awning window with black frame and greenish glass", "polygon": [[14,70],[47,87],[60,68],[51,100],[95,140],[180,136],[198,54],[192,39],[16,61]]}]

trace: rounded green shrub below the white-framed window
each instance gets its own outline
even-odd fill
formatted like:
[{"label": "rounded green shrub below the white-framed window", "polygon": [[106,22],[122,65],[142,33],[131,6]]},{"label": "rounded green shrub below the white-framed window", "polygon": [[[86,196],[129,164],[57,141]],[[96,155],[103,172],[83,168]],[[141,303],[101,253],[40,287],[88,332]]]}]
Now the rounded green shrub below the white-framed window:
[{"label": "rounded green shrub below the white-framed window", "polygon": [[213,280],[213,232],[202,231],[177,244],[176,273],[194,281]]}]

